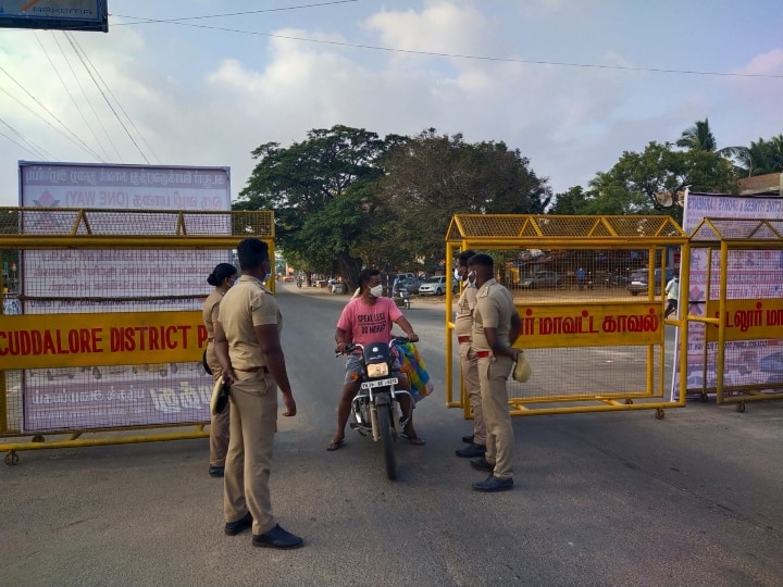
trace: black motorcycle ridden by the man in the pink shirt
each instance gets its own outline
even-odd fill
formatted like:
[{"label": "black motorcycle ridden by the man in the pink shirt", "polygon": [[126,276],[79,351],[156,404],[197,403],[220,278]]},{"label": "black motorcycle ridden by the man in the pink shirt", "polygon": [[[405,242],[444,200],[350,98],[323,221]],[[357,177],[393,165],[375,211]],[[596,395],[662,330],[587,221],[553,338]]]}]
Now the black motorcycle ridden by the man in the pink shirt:
[{"label": "black motorcycle ridden by the man in the pink shirt", "polygon": [[[397,478],[395,444],[399,437],[398,422],[400,430],[408,423],[407,417],[399,417],[401,413],[399,397],[403,394],[410,397],[408,390],[397,388],[399,379],[391,376],[391,366],[395,364],[391,347],[407,342],[410,342],[410,339],[400,337],[393,338],[388,345],[386,342],[350,344],[345,348],[345,354],[356,351],[361,353],[359,374],[361,385],[351,402],[353,422],[350,423],[350,427],[362,436],[371,435],[375,442],[381,441],[386,476],[390,480]],[[411,405],[412,402],[413,398]]]}]

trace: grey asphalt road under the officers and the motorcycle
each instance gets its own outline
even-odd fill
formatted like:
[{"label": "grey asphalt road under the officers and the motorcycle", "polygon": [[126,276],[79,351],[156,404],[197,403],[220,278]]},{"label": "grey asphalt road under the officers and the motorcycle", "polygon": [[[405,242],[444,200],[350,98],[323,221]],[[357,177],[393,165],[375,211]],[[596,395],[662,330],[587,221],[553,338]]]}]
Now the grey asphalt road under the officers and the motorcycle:
[{"label": "grey asphalt road under the officers and the motorcycle", "polygon": [[208,441],[20,453],[0,465],[3,586],[783,585],[783,403],[514,419],[515,486],[484,495],[455,457],[471,430],[445,408],[444,307],[408,316],[436,384],[426,446],[334,432],[345,296],[278,287],[299,415],[279,420],[275,513],[302,549],[223,535]]}]

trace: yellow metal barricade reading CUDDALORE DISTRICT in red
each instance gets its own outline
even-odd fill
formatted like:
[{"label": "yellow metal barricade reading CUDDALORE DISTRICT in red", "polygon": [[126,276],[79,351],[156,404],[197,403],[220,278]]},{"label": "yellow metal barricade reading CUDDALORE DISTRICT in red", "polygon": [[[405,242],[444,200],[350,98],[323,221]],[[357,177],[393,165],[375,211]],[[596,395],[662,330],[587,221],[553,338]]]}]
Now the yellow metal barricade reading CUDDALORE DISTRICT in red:
[{"label": "yellow metal barricade reading CUDDALORE DISTRICT in red", "polygon": [[0,444],[7,464],[18,450],[209,436],[206,279],[247,237],[274,259],[273,213],[0,209],[15,268],[0,282],[0,438],[30,438]]}]

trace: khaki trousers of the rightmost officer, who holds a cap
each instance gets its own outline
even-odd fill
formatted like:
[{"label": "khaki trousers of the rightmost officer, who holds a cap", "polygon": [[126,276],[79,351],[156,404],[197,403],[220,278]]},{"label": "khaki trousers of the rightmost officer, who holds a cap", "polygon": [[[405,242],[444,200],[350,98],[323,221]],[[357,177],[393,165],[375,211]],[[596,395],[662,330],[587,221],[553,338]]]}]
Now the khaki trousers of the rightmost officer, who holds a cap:
[{"label": "khaki trousers of the rightmost officer, who holds a cap", "polygon": [[478,379],[482,390],[482,409],[487,432],[487,450],[484,458],[495,464],[493,475],[506,479],[513,476],[513,427],[508,407],[506,382],[511,374],[510,357],[490,354],[478,359]]}]

